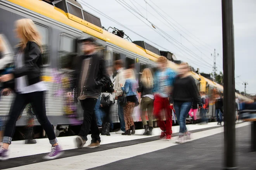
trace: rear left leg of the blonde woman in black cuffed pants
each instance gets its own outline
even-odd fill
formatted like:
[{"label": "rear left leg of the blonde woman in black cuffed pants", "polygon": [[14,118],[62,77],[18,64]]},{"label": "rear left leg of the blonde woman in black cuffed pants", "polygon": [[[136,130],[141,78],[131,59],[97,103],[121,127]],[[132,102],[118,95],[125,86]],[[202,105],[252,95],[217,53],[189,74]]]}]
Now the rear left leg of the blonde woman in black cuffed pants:
[{"label": "rear left leg of the blonde woman in black cuffed pants", "polygon": [[3,135],[3,148],[8,149],[12,143],[12,136],[14,135],[16,122],[21,115],[22,111],[28,103],[26,94],[16,94],[15,99],[10,107],[9,119],[5,125],[5,131]]}]

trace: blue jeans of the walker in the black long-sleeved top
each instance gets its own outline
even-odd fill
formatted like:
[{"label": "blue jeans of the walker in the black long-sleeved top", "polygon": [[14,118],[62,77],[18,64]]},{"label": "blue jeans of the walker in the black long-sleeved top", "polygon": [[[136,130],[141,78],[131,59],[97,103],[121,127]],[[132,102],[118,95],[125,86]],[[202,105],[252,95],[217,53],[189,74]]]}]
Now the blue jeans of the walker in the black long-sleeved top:
[{"label": "blue jeans of the walker in the black long-sleeved top", "polygon": [[183,136],[184,132],[187,132],[186,117],[191,109],[192,102],[174,102],[173,107],[177,117],[178,124],[180,125],[179,136]]}]

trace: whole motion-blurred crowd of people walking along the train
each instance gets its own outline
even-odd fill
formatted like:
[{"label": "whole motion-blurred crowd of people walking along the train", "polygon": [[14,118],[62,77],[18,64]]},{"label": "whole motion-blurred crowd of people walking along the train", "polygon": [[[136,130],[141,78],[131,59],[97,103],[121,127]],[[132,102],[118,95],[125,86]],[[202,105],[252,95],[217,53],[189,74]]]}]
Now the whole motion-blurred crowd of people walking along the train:
[{"label": "whole motion-blurred crowd of people walking along the train", "polygon": [[[3,128],[0,126],[2,147],[0,159],[7,159],[8,147],[12,142],[16,121],[26,107],[27,134],[25,143],[34,144],[33,122],[34,116],[42,125],[52,145],[46,159],[54,159],[62,154],[54,134],[52,124],[48,121],[45,109],[46,85],[42,80],[42,43],[34,22],[30,19],[20,19],[16,22],[17,52],[14,59],[7,42],[0,37],[0,82],[1,94],[15,94],[9,112],[9,119]],[[205,92],[200,92],[190,75],[190,66],[181,63],[178,72],[167,66],[167,59],[163,56],[157,59],[157,71],[151,72],[145,68],[138,82],[135,71],[124,68],[122,60],[116,60],[109,66],[107,61],[97,51],[97,43],[92,37],[80,38],[82,55],[76,57],[76,66],[66,95],[74,97],[83,109],[83,123],[76,137],[78,148],[87,142],[89,131],[92,141],[88,148],[100,146],[101,135],[110,136],[113,130],[111,107],[117,102],[120,130],[117,134],[135,134],[133,110],[140,104],[140,114],[144,126],[143,135],[152,135],[154,117],[161,128],[160,139],[170,140],[172,135],[172,113],[180,125],[176,143],[183,143],[190,139],[190,132],[186,127],[188,114],[195,124],[197,110],[200,108],[201,124],[207,124],[206,113],[209,109],[209,99]],[[14,60],[14,62],[13,62]],[[115,80],[113,72],[116,71]],[[141,100],[137,98],[140,93]],[[218,96],[215,101],[218,124],[223,121],[223,99]],[[239,105],[238,105],[239,107]],[[193,114],[192,114],[193,113]],[[146,119],[148,117],[148,121]],[[4,133],[3,133],[4,131]]]}]

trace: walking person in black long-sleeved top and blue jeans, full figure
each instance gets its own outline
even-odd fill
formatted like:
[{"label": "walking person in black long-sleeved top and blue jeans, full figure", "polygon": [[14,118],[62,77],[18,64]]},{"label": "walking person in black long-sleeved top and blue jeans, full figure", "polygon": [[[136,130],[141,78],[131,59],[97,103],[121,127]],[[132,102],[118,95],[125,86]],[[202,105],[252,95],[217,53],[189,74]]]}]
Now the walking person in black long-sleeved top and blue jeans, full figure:
[{"label": "walking person in black long-sleeved top and blue jeans, full figure", "polygon": [[195,80],[190,76],[189,71],[189,65],[181,63],[179,75],[176,77],[173,85],[173,107],[178,124],[180,125],[179,137],[176,143],[183,143],[184,140],[190,139],[190,132],[186,127],[186,117],[189,114],[193,100],[197,102],[199,107],[203,107]]}]

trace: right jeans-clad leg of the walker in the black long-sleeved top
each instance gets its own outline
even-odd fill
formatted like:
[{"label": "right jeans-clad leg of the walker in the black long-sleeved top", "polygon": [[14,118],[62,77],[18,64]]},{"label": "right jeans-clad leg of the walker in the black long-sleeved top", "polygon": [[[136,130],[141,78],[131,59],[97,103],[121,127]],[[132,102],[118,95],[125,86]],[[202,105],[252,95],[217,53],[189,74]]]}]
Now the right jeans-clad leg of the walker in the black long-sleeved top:
[{"label": "right jeans-clad leg of the walker in the black long-sleeved top", "polygon": [[183,102],[180,107],[180,131],[179,136],[183,136],[185,132],[187,132],[186,127],[186,117],[189,114],[189,110],[191,108],[192,102]]}]

